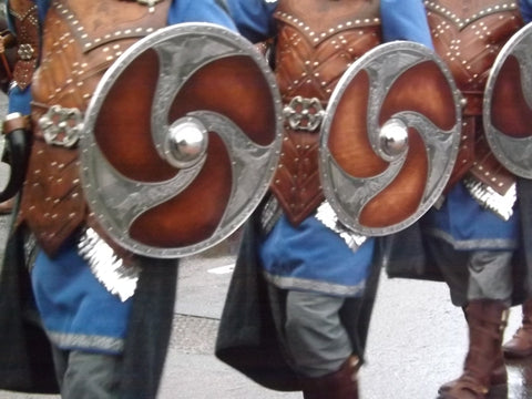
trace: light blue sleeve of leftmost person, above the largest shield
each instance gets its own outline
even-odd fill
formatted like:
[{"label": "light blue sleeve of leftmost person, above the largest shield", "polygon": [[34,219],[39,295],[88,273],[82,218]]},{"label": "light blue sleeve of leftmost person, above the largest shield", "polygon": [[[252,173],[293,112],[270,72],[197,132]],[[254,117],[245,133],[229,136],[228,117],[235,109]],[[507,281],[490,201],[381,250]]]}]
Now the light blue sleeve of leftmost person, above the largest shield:
[{"label": "light blue sleeve of leftmost person, above the largest shield", "polygon": [[174,0],[167,23],[181,22],[211,22],[236,31],[233,20],[216,0]]}]

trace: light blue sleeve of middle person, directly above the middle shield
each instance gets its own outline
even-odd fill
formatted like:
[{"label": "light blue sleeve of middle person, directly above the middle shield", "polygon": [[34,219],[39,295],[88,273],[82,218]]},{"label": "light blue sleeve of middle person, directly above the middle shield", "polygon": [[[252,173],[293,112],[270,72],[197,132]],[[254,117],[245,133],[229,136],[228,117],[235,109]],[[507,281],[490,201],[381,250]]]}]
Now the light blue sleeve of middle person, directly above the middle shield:
[{"label": "light blue sleeve of middle person, directly above the middle shield", "polygon": [[383,41],[409,40],[433,49],[421,0],[381,0]]}]

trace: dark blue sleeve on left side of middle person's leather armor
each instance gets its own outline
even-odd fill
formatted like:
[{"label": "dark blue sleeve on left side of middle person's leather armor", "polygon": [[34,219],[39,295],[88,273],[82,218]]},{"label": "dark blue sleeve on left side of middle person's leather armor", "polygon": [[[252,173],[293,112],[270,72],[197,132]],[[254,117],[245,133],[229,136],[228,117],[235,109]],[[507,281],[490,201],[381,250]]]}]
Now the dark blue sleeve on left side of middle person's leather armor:
[{"label": "dark blue sleeve on left side of middle person's leather armor", "polygon": [[277,8],[277,2],[227,0],[227,6],[238,31],[247,40],[256,43],[275,34],[273,13]]}]

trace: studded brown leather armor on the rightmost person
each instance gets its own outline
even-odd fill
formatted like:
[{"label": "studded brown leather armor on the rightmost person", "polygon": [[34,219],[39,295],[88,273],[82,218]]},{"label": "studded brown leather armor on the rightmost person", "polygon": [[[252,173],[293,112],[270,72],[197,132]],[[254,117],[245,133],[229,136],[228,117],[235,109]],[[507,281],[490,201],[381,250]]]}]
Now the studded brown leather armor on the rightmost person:
[{"label": "studded brown leather armor on the rightmost person", "polygon": [[436,51],[448,63],[464,102],[462,141],[448,187],[470,172],[504,194],[514,178],[487,146],[482,98],[497,54],[523,25],[518,4],[508,0],[434,0],[424,4]]}]

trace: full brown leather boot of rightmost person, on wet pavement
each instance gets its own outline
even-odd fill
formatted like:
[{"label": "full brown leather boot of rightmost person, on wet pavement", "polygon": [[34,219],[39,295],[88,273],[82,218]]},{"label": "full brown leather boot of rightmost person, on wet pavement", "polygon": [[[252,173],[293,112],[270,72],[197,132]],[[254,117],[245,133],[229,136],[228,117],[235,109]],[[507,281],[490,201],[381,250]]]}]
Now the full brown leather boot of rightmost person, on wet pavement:
[{"label": "full brown leather boot of rightmost person, on wet pavement", "polygon": [[[508,307],[500,300],[471,300],[466,308],[469,327],[469,350],[463,374],[443,385],[440,399],[485,399],[495,389],[492,377],[499,374],[497,389],[505,389],[508,376],[501,344],[507,326]],[[499,370],[498,370],[499,369]]]}]

